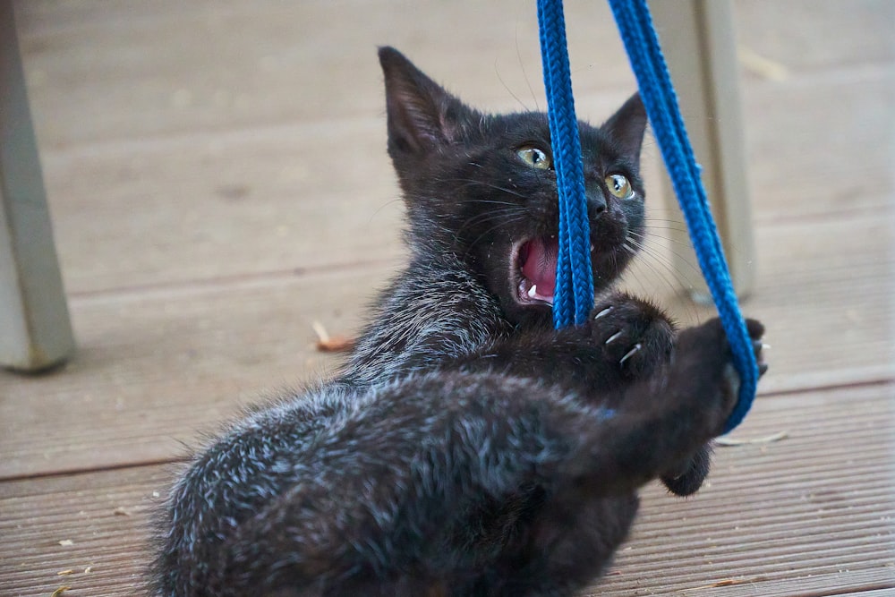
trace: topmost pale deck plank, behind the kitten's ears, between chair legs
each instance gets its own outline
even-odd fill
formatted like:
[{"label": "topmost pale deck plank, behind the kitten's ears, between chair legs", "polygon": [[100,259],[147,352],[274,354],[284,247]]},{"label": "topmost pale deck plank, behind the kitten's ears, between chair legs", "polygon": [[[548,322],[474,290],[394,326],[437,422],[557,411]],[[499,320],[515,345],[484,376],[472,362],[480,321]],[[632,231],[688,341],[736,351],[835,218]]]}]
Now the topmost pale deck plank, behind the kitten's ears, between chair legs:
[{"label": "topmost pale deck plank, behind the kitten's ears, between chair legs", "polygon": [[[535,7],[512,0],[421,3],[405,27],[396,24],[401,10],[391,0],[35,2],[19,13],[30,80],[46,90],[35,99],[36,112],[47,116],[38,128],[52,134],[53,147],[379,114],[381,105],[362,91],[379,97],[374,49],[383,44],[452,87],[470,81],[471,101],[518,109],[516,95],[527,107],[543,106]],[[334,19],[337,26],[321,26]],[[568,38],[576,76],[599,73],[582,77],[578,89],[633,89],[604,3],[576,4]]]}]

